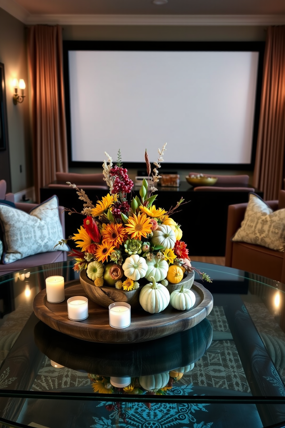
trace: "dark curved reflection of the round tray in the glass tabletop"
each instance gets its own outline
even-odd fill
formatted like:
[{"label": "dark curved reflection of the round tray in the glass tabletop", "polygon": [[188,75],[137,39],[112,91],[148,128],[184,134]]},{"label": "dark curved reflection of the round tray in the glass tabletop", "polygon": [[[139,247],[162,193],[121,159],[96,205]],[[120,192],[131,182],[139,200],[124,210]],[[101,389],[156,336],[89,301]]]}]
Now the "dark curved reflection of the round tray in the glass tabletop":
[{"label": "dark curved reflection of the round tray in the glass tabletop", "polygon": [[212,336],[206,318],[189,330],[123,346],[76,339],[42,321],[34,329],[35,344],[48,358],[69,369],[104,376],[145,376],[188,366],[204,355]]}]

